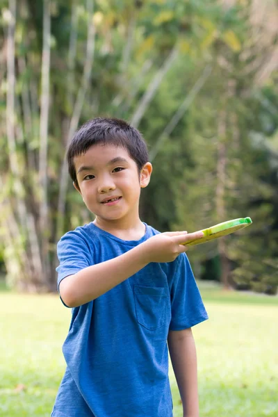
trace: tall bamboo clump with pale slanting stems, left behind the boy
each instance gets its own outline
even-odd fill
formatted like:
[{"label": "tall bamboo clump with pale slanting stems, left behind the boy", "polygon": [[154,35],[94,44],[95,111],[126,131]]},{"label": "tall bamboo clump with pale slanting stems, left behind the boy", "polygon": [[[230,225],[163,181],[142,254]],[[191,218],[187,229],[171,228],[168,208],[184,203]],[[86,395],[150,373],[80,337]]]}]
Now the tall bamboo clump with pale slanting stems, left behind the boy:
[{"label": "tall bamboo clump with pale slanting stems, left behind the boy", "polygon": [[10,285],[56,287],[56,242],[90,219],[68,191],[65,146],[81,122],[99,113],[142,122],[186,42],[202,39],[190,26],[194,13],[204,14],[205,7],[193,1],[4,2],[1,234]]}]

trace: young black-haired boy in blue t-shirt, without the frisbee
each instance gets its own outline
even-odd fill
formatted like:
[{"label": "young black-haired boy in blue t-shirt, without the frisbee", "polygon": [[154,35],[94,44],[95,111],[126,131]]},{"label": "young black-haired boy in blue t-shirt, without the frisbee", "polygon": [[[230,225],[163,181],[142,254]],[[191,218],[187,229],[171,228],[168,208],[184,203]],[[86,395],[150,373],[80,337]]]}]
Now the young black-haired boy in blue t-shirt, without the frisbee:
[{"label": "young black-haired boy in blue t-shirt, without the frisbee", "polygon": [[95,220],[58,243],[58,291],[72,321],[51,416],[171,417],[168,349],[183,416],[199,416],[190,327],[207,314],[181,244],[202,232],[159,233],[140,220],[152,165],[139,131],[123,120],[81,126],[67,161]]}]

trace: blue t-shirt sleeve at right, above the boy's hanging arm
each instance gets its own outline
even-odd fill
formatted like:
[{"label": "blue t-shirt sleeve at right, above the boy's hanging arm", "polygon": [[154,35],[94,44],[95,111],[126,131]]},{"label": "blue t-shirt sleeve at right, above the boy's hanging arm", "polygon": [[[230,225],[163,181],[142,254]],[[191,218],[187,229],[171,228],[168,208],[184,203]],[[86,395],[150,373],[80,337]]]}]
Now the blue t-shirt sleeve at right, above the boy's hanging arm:
[{"label": "blue t-shirt sleeve at right, above the boy's hanging arm", "polygon": [[170,297],[170,330],[188,329],[208,319],[188,257],[184,253],[177,259]]}]

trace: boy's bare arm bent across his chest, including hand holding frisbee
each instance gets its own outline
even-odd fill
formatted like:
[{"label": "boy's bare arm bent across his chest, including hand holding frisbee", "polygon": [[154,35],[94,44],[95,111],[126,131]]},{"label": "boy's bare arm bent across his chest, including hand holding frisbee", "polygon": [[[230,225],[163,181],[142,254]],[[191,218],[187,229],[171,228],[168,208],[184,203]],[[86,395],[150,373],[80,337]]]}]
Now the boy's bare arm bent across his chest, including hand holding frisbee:
[{"label": "boy's bare arm bent across his chest, including hand holding frisbee", "polygon": [[186,241],[204,236],[202,232],[187,234],[173,231],[157,234],[109,261],[88,266],[60,281],[59,292],[69,307],[80,306],[111,290],[150,262],[171,262],[187,247]]}]

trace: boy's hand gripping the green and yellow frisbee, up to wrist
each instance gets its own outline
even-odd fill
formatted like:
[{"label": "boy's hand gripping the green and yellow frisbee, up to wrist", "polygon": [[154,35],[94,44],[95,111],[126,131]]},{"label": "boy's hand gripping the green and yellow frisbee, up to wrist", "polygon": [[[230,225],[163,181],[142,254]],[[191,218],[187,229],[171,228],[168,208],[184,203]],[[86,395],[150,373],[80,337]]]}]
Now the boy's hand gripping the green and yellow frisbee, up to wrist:
[{"label": "boy's hand gripping the green and yellow frisbee, up to wrist", "polygon": [[204,236],[202,231],[188,234],[187,231],[166,231],[142,243],[148,262],[172,262],[188,247],[182,243]]}]

